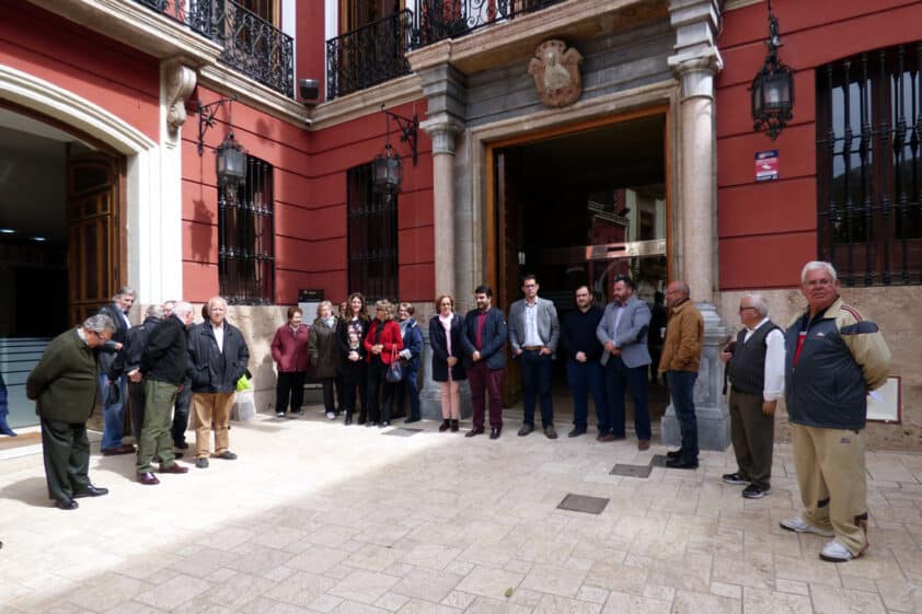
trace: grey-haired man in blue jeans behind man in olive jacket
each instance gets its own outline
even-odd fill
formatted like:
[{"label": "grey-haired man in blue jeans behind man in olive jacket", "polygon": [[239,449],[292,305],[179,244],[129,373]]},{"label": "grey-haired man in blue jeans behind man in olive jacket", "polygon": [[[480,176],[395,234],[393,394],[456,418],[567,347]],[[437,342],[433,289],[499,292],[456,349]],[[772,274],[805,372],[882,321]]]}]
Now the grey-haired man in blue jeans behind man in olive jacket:
[{"label": "grey-haired man in blue jeans behind man in olive jacket", "polygon": [[[112,339],[100,348],[100,387],[103,398],[102,450],[106,456],[130,454],[135,451],[134,445],[122,442],[127,392],[125,376],[110,379],[112,363],[128,338],[128,329],[131,327],[128,311],[132,304],[135,304],[135,291],[126,286],[112,298],[112,303],[100,308],[100,313],[107,315],[115,325]],[[134,435],[138,437],[138,433]]]}]

